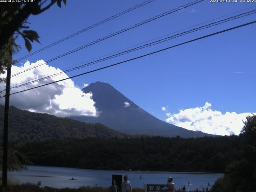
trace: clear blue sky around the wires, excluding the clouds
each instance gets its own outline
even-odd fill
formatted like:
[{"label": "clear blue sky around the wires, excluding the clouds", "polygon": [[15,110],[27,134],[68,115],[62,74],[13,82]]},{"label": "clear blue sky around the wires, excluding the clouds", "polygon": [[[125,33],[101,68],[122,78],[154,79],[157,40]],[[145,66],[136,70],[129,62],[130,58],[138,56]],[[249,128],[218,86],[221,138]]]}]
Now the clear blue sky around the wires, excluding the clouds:
[{"label": "clear blue sky around the wires, excluding the clouds", "polygon": [[[232,0],[231,0],[232,1]],[[78,30],[122,12],[143,1],[135,0],[68,0],[62,9],[54,5],[38,16],[30,16],[30,29],[36,30],[42,44],[33,43],[32,52]],[[64,52],[102,38],[138,22],[191,2],[189,0],[156,0],[128,14],[106,22],[78,36],[23,60],[48,60]],[[254,7],[253,7],[254,6]],[[252,7],[252,8],[250,8]],[[233,12],[256,9],[256,3],[210,3],[205,0],[184,10],[124,32],[103,42],[70,54],[48,65],[66,68],[136,44],[164,36]],[[230,16],[236,15],[232,14]],[[227,18],[223,17],[223,18]],[[220,19],[223,19],[220,18]],[[120,62],[161,48],[185,42],[212,32],[255,20],[256,14],[205,30],[194,32],[165,43],[68,73],[68,76]],[[218,19],[218,20],[220,20]],[[214,20],[217,21],[217,20]],[[179,32],[177,32],[179,33]],[[107,82],[144,110],[166,120],[180,110],[207,106],[222,114],[255,112],[256,24],[210,38],[198,40],[120,66],[74,78],[74,84]],[[176,34],[176,33],[174,33]],[[28,54],[22,38],[22,50],[14,58]],[[206,105],[205,105],[206,104]],[[166,107],[166,110],[162,110]],[[209,106],[208,106],[209,107]],[[208,108],[209,109],[209,108]],[[170,116],[170,115],[169,115]],[[174,122],[174,121],[172,121]]]}]

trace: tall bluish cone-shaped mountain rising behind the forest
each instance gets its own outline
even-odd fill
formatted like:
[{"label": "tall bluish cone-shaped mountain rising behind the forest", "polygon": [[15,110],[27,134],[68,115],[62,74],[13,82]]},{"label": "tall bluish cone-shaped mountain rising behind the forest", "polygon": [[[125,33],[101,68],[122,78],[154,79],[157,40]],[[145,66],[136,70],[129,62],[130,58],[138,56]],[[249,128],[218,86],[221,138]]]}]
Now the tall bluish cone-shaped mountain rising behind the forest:
[{"label": "tall bluish cone-shaped mountain rising behind the forest", "polygon": [[85,93],[92,92],[92,98],[96,102],[95,106],[100,111],[100,116],[97,118],[76,116],[71,117],[72,119],[82,122],[102,123],[126,134],[180,136],[183,138],[215,136],[201,131],[190,131],[159,120],[137,106],[108,83],[98,81],[91,83],[82,90]]}]

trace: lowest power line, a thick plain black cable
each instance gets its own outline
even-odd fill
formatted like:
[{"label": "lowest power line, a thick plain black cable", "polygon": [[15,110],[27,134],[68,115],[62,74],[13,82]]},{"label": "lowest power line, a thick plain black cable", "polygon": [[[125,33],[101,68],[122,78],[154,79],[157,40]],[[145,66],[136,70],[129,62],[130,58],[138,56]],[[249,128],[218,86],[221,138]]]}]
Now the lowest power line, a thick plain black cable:
[{"label": "lowest power line, a thick plain black cable", "polygon": [[[227,32],[227,31],[230,31],[230,30],[234,30],[234,29],[236,29],[236,28],[240,28],[240,27],[247,26],[247,25],[254,24],[254,23],[256,23],[256,20],[254,20],[254,21],[252,21],[252,22],[248,22],[248,23],[242,24],[242,25],[239,25],[239,26],[235,26],[235,27],[232,27],[232,28],[228,28],[228,29],[225,29],[225,30],[222,30],[222,31],[218,31],[218,32],[215,32],[215,33],[212,33],[212,34],[208,34],[208,35],[206,35],[206,36],[201,36],[201,37],[199,37],[199,38],[196,38],[196,39],[193,39],[193,40],[189,40],[189,41],[186,41],[186,42],[183,42],[183,43],[180,43],[180,44],[176,44],[176,45],[174,45],[174,46],[170,46],[170,47],[167,47],[167,48],[164,48],[164,49],[155,51],[155,52],[151,52],[151,53],[148,53],[148,54],[144,54],[144,55],[142,55],[142,56],[138,56],[138,57],[135,57],[135,58],[131,58],[131,59],[122,61],[122,62],[118,62],[118,63],[112,64],[112,65],[108,65],[108,66],[105,66],[105,67],[102,67],[102,68],[98,68],[98,69],[95,69],[95,70],[92,70],[92,71],[89,71],[89,72],[84,72],[84,73],[81,73],[81,74],[78,74],[78,75],[75,75],[75,76],[71,76],[71,77],[68,77],[68,78],[64,78],[64,79],[61,79],[61,80],[58,80],[58,81],[54,81],[54,82],[50,82],[50,83],[47,83],[47,84],[44,84],[44,85],[40,85],[40,86],[36,86],[36,87],[33,87],[33,88],[29,88],[29,89],[26,89],[26,90],[14,92],[14,93],[11,93],[10,95],[17,94],[17,93],[21,93],[21,92],[25,92],[25,91],[28,91],[28,90],[32,90],[32,89],[35,89],[35,88],[42,87],[42,86],[54,84],[54,83],[57,83],[57,82],[60,82],[60,81],[63,81],[63,80],[75,78],[75,77],[82,76],[82,75],[85,75],[85,74],[89,74],[89,73],[92,73],[92,72],[96,72],[96,71],[99,71],[99,70],[102,70],[102,69],[106,69],[106,68],[109,68],[109,67],[112,67],[112,66],[116,66],[116,65],[125,63],[125,62],[129,62],[129,61],[132,61],[132,60],[136,60],[136,59],[138,59],[138,58],[146,57],[146,56],[149,56],[149,55],[158,53],[158,52],[162,52],[162,51],[164,51],[164,50],[168,50],[168,49],[170,49],[170,48],[174,48],[174,47],[177,47],[177,46],[180,46],[180,45],[183,45],[183,44],[187,44],[187,43],[190,43],[190,42],[194,42],[194,41],[196,41],[196,40],[200,40],[200,39],[203,39],[203,38],[207,38],[207,37],[210,37],[210,36],[214,36],[214,35],[216,35],[216,34],[220,34],[220,33],[223,33],[223,32]],[[2,97],[0,97],[0,98],[3,98],[3,97],[5,97],[5,96],[2,96]]]}]

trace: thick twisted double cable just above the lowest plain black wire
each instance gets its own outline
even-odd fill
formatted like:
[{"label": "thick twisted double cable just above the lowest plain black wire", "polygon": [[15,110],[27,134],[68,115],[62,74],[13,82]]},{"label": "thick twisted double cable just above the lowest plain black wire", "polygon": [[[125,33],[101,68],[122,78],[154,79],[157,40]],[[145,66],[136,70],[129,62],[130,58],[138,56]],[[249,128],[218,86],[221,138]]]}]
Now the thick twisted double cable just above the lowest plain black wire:
[{"label": "thick twisted double cable just above the lowest plain black wire", "polygon": [[232,17],[229,17],[229,18],[226,18],[226,19],[223,19],[223,20],[219,20],[219,21],[216,21],[216,22],[213,22],[213,23],[210,23],[210,24],[207,24],[207,25],[204,25],[204,26],[200,26],[198,28],[194,28],[192,30],[188,30],[188,31],[185,31],[185,32],[182,32],[180,34],[176,34],[176,35],[173,35],[173,36],[169,36],[167,38],[163,38],[163,39],[160,39],[160,40],[157,40],[157,41],[154,41],[154,42],[151,42],[151,43],[148,43],[148,44],[144,44],[142,46],[138,46],[136,48],[132,48],[130,50],[126,50],[124,52],[120,52],[118,54],[114,54],[114,55],[111,55],[111,56],[108,56],[108,57],[105,57],[105,58],[102,58],[102,59],[99,59],[99,60],[96,60],[96,61],[93,61],[93,62],[89,62],[87,64],[83,64],[83,65],[80,65],[80,66],[77,66],[77,67],[74,67],[74,68],[71,68],[71,69],[68,69],[68,70],[64,70],[62,72],[58,72],[56,74],[52,74],[52,75],[49,75],[49,76],[46,76],[46,77],[43,77],[43,78],[39,78],[37,80],[29,80],[29,81],[26,81],[26,82],[22,82],[20,83],[19,85],[14,85],[12,86],[12,89],[13,88],[19,88],[19,87],[22,87],[22,86],[26,86],[28,84],[32,84],[32,83],[35,83],[35,82],[39,82],[39,81],[42,81],[42,80],[46,80],[48,78],[52,78],[54,76],[58,76],[60,74],[63,74],[63,73],[67,73],[67,72],[70,72],[70,71],[73,71],[73,70],[78,70],[80,68],[83,68],[83,67],[86,67],[86,66],[90,66],[92,64],[96,64],[96,63],[99,63],[99,62],[102,62],[102,61],[105,61],[105,60],[108,60],[108,59],[111,59],[111,58],[115,58],[115,57],[118,57],[118,56],[121,56],[121,55],[124,55],[124,54],[127,54],[127,53],[130,53],[130,52],[133,52],[133,51],[136,51],[136,50],[140,50],[142,48],[146,48],[146,47],[149,47],[149,46],[153,46],[153,45],[156,45],[156,44],[159,44],[159,43],[162,43],[162,42],[166,42],[168,40],[172,40],[174,38],[177,38],[177,37],[180,37],[180,36],[183,36],[183,35],[186,35],[186,34],[190,34],[192,32],[196,32],[196,31],[199,31],[199,30],[202,30],[202,29],[206,29],[206,28],[209,28],[209,27],[212,27],[212,26],[216,26],[218,24],[222,24],[222,23],[225,23],[225,22],[228,22],[228,21],[231,21],[231,20],[234,20],[234,19],[237,19],[237,18],[241,18],[241,17],[244,17],[244,16],[248,16],[250,14],[255,14],[256,13],[256,10],[251,10],[251,11],[248,11],[248,12],[245,12],[245,13],[242,13],[242,14],[238,14],[236,16],[232,16]]}]

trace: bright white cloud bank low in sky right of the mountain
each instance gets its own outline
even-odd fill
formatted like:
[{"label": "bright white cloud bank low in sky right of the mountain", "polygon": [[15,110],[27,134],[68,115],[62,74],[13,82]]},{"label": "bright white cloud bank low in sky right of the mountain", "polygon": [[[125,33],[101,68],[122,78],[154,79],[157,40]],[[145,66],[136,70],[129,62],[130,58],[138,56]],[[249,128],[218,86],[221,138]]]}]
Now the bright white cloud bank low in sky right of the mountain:
[{"label": "bright white cloud bank low in sky right of the mountain", "polygon": [[231,135],[240,134],[246,120],[251,113],[226,112],[212,110],[212,104],[206,102],[202,107],[180,110],[177,114],[167,113],[166,122],[193,131],[202,131],[210,134]]}]

